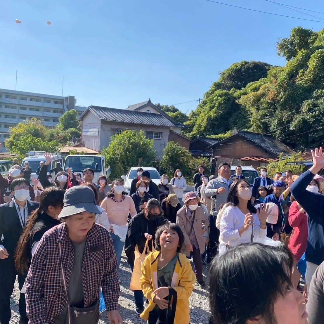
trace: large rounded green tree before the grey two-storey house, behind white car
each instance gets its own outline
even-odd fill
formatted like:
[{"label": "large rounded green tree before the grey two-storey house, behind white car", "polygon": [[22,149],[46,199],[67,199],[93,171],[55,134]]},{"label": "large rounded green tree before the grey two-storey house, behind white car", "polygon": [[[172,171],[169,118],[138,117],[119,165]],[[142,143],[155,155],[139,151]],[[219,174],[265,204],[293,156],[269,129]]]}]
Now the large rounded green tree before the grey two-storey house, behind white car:
[{"label": "large rounded green tree before the grey two-storey house, behind white car", "polygon": [[101,154],[106,156],[106,165],[110,165],[111,178],[121,177],[131,167],[150,167],[156,159],[154,140],[147,139],[143,131],[138,133],[126,130],[115,135],[110,145],[103,147]]}]

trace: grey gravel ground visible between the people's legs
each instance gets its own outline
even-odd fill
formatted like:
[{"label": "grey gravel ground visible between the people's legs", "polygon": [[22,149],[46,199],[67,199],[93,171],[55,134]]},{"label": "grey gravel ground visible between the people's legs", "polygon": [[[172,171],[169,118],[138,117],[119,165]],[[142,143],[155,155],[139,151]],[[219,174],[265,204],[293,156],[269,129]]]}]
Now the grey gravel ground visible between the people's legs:
[{"label": "grey gravel ground visible between the people's legs", "polygon": [[[204,266],[203,269],[204,279],[206,284],[208,284],[208,274],[207,267]],[[145,323],[139,315],[135,314],[134,311],[134,296],[133,292],[129,290],[129,283],[131,281],[131,269],[127,263],[125,254],[121,257],[121,265],[120,265],[120,280],[121,280],[121,295],[119,298],[119,312],[121,314],[121,318],[123,319],[123,323],[131,324],[131,323]],[[190,315],[191,315],[191,324],[207,324],[210,317],[209,312],[209,301],[208,301],[208,289],[207,285],[206,289],[202,289],[198,284],[195,284],[194,290],[189,299],[190,301]],[[16,281],[13,295],[11,296],[11,324],[17,324],[19,321],[19,313],[18,313],[18,299],[19,299],[19,289],[18,283]],[[104,312],[100,315],[99,324],[109,323],[107,318],[107,313]],[[184,323],[186,324],[186,323]]]}]

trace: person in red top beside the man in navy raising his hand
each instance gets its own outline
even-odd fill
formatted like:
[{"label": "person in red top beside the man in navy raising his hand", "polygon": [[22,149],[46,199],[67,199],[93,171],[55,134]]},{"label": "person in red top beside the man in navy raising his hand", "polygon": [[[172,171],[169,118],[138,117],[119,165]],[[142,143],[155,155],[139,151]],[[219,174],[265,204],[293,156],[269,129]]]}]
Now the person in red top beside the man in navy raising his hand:
[{"label": "person in red top beside the man in navy raising his hand", "polygon": [[288,247],[294,257],[292,282],[296,288],[300,278],[300,273],[297,270],[296,265],[306,251],[308,224],[307,213],[305,210],[295,201],[293,196],[290,197],[290,200],[292,201],[292,204],[289,209],[288,222],[294,229],[289,239]]}]

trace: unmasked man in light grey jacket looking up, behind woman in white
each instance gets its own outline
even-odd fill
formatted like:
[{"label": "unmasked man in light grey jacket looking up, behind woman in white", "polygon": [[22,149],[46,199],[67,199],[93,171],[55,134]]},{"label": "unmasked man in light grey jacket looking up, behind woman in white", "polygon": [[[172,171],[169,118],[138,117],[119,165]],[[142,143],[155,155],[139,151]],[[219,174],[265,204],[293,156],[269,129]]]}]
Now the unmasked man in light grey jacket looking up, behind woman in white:
[{"label": "unmasked man in light grey jacket looking up, behind woman in white", "polygon": [[[218,178],[210,180],[205,187],[204,194],[206,197],[212,197],[212,209],[210,211],[210,224],[211,230],[209,234],[209,243],[207,247],[207,263],[217,253],[219,230],[216,228],[216,218],[219,211],[219,207],[222,203],[226,203],[226,199],[229,192],[229,187],[233,183],[230,180],[231,166],[227,162],[221,163],[218,167]],[[212,231],[213,227],[213,231]]]}]

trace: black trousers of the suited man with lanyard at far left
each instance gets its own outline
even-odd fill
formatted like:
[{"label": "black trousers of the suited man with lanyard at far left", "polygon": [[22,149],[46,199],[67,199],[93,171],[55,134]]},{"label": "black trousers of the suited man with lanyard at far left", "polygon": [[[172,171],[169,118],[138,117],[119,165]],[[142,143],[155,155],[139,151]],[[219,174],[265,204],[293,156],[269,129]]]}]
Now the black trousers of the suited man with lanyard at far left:
[{"label": "black trousers of the suited man with lanyard at far left", "polygon": [[[11,318],[10,297],[14,290],[16,276],[18,275],[19,291],[22,289],[26,276],[17,274],[14,258],[0,260],[0,323],[9,324]],[[19,324],[27,324],[25,294],[19,296]]]}]

